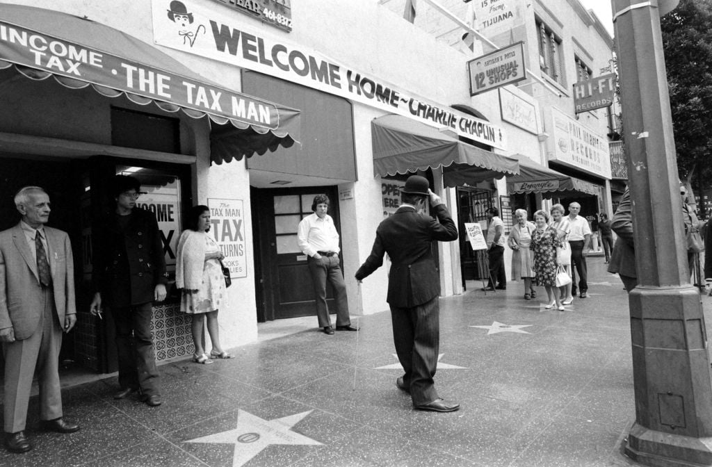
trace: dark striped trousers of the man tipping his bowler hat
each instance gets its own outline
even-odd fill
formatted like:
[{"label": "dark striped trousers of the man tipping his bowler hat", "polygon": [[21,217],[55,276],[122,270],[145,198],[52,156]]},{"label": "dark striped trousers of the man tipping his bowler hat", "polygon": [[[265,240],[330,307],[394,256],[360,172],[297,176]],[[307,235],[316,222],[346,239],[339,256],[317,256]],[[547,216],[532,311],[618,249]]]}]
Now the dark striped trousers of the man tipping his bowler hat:
[{"label": "dark striped trousers of the man tipping his bowler hat", "polygon": [[433,377],[438,366],[440,347],[440,301],[409,308],[390,305],[393,342],[405,374],[403,382],[410,389],[413,405],[439,399]]}]

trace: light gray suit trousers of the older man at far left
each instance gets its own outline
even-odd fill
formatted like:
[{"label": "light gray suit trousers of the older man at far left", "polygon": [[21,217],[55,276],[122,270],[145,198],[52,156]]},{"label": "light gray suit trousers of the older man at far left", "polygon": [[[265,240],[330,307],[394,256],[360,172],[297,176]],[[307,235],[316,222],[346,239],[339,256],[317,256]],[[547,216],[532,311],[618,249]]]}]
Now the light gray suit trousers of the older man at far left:
[{"label": "light gray suit trousers of the older man at far left", "polygon": [[27,339],[4,342],[4,429],[16,433],[25,429],[32,377],[37,370],[40,419],[62,416],[62,393],[59,384],[59,351],[62,326],[57,317],[52,288],[42,288],[43,313],[37,330]]}]

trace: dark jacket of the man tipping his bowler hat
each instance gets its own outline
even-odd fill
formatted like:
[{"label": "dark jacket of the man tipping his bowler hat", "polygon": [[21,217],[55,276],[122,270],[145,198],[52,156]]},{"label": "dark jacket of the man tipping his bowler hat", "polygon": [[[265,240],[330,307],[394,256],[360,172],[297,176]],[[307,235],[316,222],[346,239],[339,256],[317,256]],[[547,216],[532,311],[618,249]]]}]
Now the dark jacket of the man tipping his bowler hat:
[{"label": "dark jacket of the man tipping his bowler hat", "polygon": [[431,253],[431,241],[457,239],[457,226],[444,204],[432,211],[439,223],[426,214],[403,206],[376,229],[376,241],[365,263],[356,271],[362,280],[391,258],[388,280],[390,305],[406,308],[422,305],[440,294],[440,276]]}]

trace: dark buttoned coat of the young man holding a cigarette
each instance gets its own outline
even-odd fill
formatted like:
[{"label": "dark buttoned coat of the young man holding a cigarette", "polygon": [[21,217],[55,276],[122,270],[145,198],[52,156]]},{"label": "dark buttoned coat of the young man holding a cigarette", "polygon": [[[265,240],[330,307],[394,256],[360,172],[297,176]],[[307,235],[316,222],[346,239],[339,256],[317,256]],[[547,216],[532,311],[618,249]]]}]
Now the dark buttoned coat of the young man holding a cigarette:
[{"label": "dark buttoned coat of the young man holding a cigarette", "polygon": [[157,284],[166,284],[166,260],[156,216],[134,208],[121,231],[117,215],[100,224],[94,242],[95,291],[110,307],[153,301]]}]

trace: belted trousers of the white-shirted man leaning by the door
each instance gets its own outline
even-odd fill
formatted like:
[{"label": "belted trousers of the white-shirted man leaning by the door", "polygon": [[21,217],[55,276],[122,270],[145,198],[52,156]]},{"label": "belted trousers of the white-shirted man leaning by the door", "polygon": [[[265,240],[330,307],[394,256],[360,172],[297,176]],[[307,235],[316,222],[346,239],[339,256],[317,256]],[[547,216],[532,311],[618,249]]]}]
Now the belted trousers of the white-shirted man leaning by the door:
[{"label": "belted trousers of the white-shirted man leaning by the door", "polygon": [[339,256],[322,256],[321,259],[307,258],[309,272],[312,276],[314,295],[316,296],[316,315],[319,320],[319,327],[331,325],[329,308],[326,305],[326,281],[331,283],[334,291],[334,301],[336,303],[336,325],[348,326],[351,324],[349,318],[349,304],[346,297],[346,284],[344,275],[341,272]]}]

